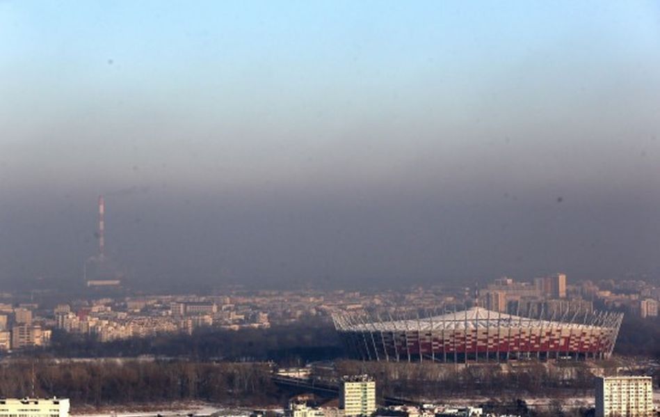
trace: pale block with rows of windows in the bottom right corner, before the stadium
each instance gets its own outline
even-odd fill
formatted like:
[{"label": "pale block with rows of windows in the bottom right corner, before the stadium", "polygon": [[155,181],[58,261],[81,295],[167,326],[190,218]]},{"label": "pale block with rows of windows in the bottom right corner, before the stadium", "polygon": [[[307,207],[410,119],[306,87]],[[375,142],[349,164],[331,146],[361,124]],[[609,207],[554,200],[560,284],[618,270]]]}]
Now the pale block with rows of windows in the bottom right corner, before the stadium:
[{"label": "pale block with rows of windows in the bottom right corner, before the stadium", "polygon": [[596,417],[653,415],[651,377],[596,379]]}]

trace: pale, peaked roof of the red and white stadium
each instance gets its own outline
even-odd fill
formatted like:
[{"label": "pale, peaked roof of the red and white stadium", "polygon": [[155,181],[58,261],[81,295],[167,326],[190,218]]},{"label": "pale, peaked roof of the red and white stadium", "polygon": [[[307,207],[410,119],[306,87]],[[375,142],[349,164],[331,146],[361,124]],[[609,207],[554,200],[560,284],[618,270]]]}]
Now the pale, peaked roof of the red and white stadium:
[{"label": "pale, peaked roof of the red and white stadium", "polygon": [[[429,331],[442,329],[475,329],[475,328],[497,328],[497,327],[564,327],[564,328],[585,328],[597,329],[601,327],[609,328],[611,326],[608,320],[614,317],[613,313],[593,313],[579,315],[579,321],[574,321],[578,317],[576,313],[556,314],[555,317],[544,317],[546,320],[538,318],[522,317],[499,313],[481,307],[473,307],[468,310],[446,313],[443,315],[434,315],[429,317],[408,318],[404,320],[394,320],[392,317],[380,316],[365,317],[365,315],[355,315],[351,313],[339,313],[333,315],[335,326],[342,331]],[[618,317],[618,315],[617,315]],[[547,320],[550,318],[550,320]],[[612,322],[614,324],[614,321]]]}]

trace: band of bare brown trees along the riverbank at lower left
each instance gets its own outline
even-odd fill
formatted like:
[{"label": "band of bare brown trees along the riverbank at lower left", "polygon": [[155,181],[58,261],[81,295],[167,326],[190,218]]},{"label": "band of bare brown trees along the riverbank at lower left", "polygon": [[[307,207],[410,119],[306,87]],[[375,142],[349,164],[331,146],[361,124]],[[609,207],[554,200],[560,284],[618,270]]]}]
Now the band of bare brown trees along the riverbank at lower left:
[{"label": "band of bare brown trees along the riverbank at lower left", "polygon": [[280,391],[267,363],[22,360],[0,367],[0,398],[70,398],[72,404],[203,400],[273,404]]}]

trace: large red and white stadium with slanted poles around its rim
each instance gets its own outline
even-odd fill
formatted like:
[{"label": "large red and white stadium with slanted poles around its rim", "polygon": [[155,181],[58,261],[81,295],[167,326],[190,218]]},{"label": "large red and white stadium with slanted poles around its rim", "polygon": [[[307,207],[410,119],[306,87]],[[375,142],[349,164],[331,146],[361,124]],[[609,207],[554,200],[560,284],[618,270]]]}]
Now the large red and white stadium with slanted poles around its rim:
[{"label": "large red and white stadium with slanted poles around its rim", "polygon": [[622,319],[622,313],[613,312],[532,318],[481,307],[414,318],[388,315],[388,320],[366,312],[332,315],[354,359],[458,363],[606,359],[612,354]]}]

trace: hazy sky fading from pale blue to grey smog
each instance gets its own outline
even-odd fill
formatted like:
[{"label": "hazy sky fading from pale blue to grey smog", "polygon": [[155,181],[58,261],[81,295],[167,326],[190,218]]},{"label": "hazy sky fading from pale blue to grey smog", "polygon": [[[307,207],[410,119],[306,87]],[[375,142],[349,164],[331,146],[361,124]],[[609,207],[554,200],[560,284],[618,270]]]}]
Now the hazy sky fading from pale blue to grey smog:
[{"label": "hazy sky fading from pale blue to grey smog", "polygon": [[0,283],[660,274],[657,1],[0,1]]}]

